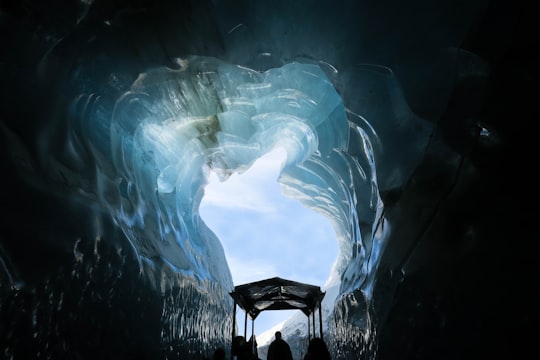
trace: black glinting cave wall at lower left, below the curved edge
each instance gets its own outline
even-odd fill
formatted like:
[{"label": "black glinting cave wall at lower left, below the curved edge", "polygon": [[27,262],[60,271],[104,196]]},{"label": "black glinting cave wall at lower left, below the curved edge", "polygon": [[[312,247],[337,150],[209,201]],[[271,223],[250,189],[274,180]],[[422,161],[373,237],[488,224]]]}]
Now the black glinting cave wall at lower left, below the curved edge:
[{"label": "black glinting cave wall at lower left, below the curved edge", "polygon": [[103,214],[12,179],[6,164],[0,357],[158,358],[163,299],[124,236]]}]

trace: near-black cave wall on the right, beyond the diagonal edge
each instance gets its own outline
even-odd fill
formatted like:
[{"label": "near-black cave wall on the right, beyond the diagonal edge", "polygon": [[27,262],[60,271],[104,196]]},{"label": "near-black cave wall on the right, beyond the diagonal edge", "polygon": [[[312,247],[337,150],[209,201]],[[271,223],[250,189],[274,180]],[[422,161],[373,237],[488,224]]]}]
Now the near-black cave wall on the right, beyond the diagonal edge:
[{"label": "near-black cave wall on the right, beyond the diagonal edge", "polygon": [[[530,204],[538,194],[520,165],[534,161],[533,24],[521,3],[496,1],[471,29],[463,48],[489,62],[487,83],[456,86],[431,153],[388,207],[393,236],[409,238],[411,248],[392,261],[405,277],[398,276],[380,326],[379,359],[510,359],[535,351],[539,313],[529,289],[539,273],[538,212]],[[479,88],[482,101],[471,102]],[[476,124],[492,138],[479,136]],[[451,161],[435,150],[441,145],[454,152]]]}]

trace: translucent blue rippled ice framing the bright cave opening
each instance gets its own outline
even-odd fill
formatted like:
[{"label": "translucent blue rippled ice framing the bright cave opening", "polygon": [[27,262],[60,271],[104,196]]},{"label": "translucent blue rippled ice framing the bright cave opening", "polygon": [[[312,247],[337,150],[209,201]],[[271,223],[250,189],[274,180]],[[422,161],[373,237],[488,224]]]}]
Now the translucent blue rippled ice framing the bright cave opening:
[{"label": "translucent blue rippled ice framing the bright cave opening", "polygon": [[[198,213],[204,187],[212,173],[225,181],[279,147],[286,152],[278,177],[284,194],[325,215],[336,230],[339,252],[330,273],[341,279],[332,286],[341,285],[341,293],[363,289],[361,298],[369,301],[385,246],[383,236],[372,237],[383,209],[377,159],[394,151],[381,146],[375,122],[345,108],[324,66],[316,62],[294,61],[266,71],[202,56],[178,64],[139,74],[110,114],[88,105],[99,101],[94,94],[76,96],[70,118],[77,126],[66,140],[74,144],[72,161],[90,156],[86,151],[94,157],[102,180],[85,193],[108,209],[154,286],[162,293],[178,286],[164,282],[160,264],[166,264],[177,281],[213,289],[214,298],[232,288],[219,240]],[[431,126],[407,110],[389,73],[380,81],[388,89],[388,107],[395,109],[385,117],[416,129],[410,135],[417,137],[414,141],[397,144],[401,154],[408,153],[390,176],[392,186],[401,186]],[[327,322],[331,306],[325,303]],[[174,328],[198,326],[179,324],[170,318],[175,312],[166,317],[168,341],[182,337]],[[368,336],[372,329],[362,324],[362,336]]]}]

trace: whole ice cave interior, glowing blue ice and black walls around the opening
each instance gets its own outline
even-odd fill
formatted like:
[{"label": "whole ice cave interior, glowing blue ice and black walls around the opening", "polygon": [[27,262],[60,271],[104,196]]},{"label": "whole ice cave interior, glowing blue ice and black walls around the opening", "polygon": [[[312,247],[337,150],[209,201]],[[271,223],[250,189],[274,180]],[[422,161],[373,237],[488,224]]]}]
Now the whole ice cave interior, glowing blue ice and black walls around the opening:
[{"label": "whole ice cave interior, glowing blue ice and black walls around the opening", "polygon": [[[235,284],[199,206],[210,174],[226,181],[276,147],[284,193],[336,232],[334,360],[534,351],[532,13],[3,2],[0,358],[228,349]],[[306,334],[287,331],[301,360]]]}]

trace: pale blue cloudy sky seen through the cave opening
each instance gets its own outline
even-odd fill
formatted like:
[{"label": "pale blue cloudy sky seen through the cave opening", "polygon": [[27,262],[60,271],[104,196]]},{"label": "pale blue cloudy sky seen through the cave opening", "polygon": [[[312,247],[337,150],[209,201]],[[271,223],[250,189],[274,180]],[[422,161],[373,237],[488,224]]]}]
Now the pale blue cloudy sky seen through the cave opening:
[{"label": "pale blue cloudy sky seen through the cave opening", "polygon": [[[277,177],[284,158],[274,150],[224,182],[212,174],[199,212],[223,244],[235,286],[279,276],[324,290],[337,257],[335,230],[325,216],[283,195]],[[263,311],[255,335],[298,311]],[[244,316],[237,309],[240,334]],[[248,318],[248,337],[251,326]]]}]

